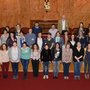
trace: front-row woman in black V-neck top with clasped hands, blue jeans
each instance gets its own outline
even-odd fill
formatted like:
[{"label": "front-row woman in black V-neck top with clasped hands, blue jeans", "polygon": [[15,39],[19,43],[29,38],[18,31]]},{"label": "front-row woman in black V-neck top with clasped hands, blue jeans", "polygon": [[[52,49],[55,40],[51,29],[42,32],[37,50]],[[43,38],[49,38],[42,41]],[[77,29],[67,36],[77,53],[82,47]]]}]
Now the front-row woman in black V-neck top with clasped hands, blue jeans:
[{"label": "front-row woman in black V-neck top with clasped hands, blue jeans", "polygon": [[84,48],[81,47],[81,43],[77,42],[76,48],[73,51],[74,61],[74,79],[80,80],[80,70],[84,57]]}]

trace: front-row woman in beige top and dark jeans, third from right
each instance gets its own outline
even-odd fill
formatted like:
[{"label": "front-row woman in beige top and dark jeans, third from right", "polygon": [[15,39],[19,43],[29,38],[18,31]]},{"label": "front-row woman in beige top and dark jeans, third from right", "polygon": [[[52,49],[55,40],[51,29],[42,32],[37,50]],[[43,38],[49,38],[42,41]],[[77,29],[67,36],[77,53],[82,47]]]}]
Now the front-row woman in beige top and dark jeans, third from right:
[{"label": "front-row woman in beige top and dark jeans, third from right", "polygon": [[72,62],[72,49],[70,48],[70,43],[67,43],[65,48],[62,49],[62,63],[63,63],[63,73],[64,79],[69,79],[69,67]]}]

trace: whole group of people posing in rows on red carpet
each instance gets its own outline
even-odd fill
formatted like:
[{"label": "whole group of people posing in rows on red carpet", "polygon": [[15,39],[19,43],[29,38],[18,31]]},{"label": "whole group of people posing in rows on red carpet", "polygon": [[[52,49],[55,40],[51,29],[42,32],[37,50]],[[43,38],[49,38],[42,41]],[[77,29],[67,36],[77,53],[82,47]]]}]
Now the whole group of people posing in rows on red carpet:
[{"label": "whole group of people posing in rows on red carpet", "polygon": [[[64,16],[63,16],[64,18]],[[59,21],[60,23],[60,21]],[[85,79],[90,75],[90,31],[85,34],[80,23],[77,35],[68,35],[65,21],[62,31],[53,24],[47,37],[42,37],[42,28],[38,23],[23,34],[21,26],[16,25],[10,32],[6,27],[0,37],[0,66],[3,78],[8,78],[9,63],[12,65],[13,79],[18,79],[18,64],[23,66],[23,79],[27,79],[28,65],[32,63],[33,76],[39,75],[39,64],[43,66],[43,79],[49,78],[49,65],[53,64],[53,78],[58,78],[60,64],[63,65],[64,79],[69,79],[70,64],[74,65],[74,79],[80,80],[81,66],[84,62]],[[60,25],[58,25],[60,26]]]}]

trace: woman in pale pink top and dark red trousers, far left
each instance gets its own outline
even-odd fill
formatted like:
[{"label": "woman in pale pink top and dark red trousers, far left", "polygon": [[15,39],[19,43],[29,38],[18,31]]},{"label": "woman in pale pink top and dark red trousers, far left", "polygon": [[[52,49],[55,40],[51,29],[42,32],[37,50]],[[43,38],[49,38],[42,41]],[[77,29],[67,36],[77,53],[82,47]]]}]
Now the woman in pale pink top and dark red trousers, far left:
[{"label": "woman in pale pink top and dark red trousers, far left", "polygon": [[1,45],[0,63],[1,63],[1,68],[2,68],[3,78],[8,78],[9,55],[8,55],[8,47],[5,43]]}]

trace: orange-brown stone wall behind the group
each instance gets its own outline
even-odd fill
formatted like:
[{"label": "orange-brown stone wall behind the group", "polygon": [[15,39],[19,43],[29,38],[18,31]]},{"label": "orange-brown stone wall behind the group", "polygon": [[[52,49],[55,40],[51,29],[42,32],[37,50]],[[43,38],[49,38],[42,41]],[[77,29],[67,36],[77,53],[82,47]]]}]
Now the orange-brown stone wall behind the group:
[{"label": "orange-brown stone wall behind the group", "polygon": [[44,0],[0,0],[0,27],[30,26],[30,20],[58,20],[63,14],[70,27],[77,27],[80,21],[90,23],[90,0],[49,0],[51,10],[44,11]]}]

